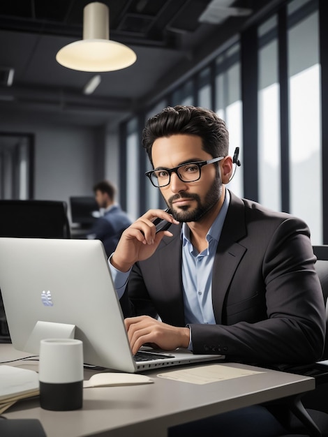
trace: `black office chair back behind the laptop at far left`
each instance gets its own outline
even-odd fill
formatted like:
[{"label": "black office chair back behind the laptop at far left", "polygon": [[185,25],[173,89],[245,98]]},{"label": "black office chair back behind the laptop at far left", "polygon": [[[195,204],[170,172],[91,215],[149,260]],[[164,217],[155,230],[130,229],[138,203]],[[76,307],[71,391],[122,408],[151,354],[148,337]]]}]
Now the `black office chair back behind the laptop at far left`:
[{"label": "black office chair back behind the laptop at far left", "polygon": [[[66,202],[0,200],[0,237],[70,238]],[[1,290],[0,343],[10,343]]]}]

